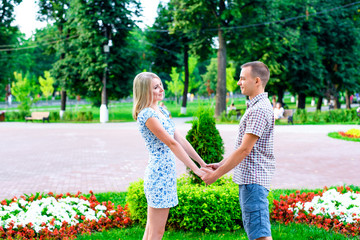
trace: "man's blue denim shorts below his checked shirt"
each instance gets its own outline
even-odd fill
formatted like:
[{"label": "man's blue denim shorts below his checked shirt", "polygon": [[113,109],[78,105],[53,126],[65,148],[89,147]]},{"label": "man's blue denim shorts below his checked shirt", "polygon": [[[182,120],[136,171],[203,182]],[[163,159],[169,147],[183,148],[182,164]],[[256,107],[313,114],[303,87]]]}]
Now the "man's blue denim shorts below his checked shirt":
[{"label": "man's blue denim shorts below his checked shirt", "polygon": [[243,224],[250,240],[271,236],[269,190],[258,184],[239,185]]}]

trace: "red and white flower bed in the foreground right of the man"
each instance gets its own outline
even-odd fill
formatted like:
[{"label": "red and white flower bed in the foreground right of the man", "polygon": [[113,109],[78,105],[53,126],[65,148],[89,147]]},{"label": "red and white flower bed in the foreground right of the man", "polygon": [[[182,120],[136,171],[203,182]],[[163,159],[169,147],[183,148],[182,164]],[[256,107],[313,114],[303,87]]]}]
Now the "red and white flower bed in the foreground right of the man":
[{"label": "red and white flower bed in the foreground right of the man", "polygon": [[318,193],[302,193],[280,196],[274,200],[271,218],[289,222],[316,225],[343,234],[360,233],[360,194],[350,187],[325,188]]}]

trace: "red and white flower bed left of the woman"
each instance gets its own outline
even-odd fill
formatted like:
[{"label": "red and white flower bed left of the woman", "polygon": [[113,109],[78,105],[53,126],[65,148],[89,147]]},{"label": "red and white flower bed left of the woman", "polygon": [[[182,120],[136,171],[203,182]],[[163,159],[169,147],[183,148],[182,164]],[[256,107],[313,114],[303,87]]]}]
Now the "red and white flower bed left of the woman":
[{"label": "red and white flower bed left of the woman", "polygon": [[110,201],[99,203],[94,194],[87,199],[76,195],[53,193],[21,196],[0,204],[0,238],[74,239],[77,234],[91,234],[131,223],[127,206],[117,208]]}]

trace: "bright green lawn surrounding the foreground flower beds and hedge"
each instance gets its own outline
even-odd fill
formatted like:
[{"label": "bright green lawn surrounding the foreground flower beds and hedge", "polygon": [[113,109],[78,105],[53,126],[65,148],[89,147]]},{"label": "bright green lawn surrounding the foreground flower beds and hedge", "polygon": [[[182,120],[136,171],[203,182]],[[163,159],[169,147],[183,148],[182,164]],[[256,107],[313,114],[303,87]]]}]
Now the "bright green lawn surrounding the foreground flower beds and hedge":
[{"label": "bright green lawn surrounding the foreground flower beds and hedge", "polygon": [[[360,188],[355,188],[360,189]],[[318,192],[322,189],[301,189],[300,192]],[[294,193],[295,189],[273,189],[271,193],[274,199],[279,199],[280,195],[288,195]],[[126,192],[107,192],[95,194],[99,202],[111,201],[115,205],[126,204]],[[85,195],[88,196],[88,195]],[[271,223],[271,231],[273,239],[277,240],[303,240],[303,239],[324,239],[324,240],[342,240],[342,239],[358,239],[357,237],[344,236],[332,231],[317,228],[315,226],[308,226],[306,224],[290,223],[284,225],[278,222]],[[104,232],[96,232],[91,235],[78,236],[79,240],[137,240],[141,239],[144,233],[144,226],[137,223],[124,229],[110,229]],[[198,240],[242,240],[248,239],[243,229],[229,232],[189,232],[167,229],[164,240],[183,240],[183,239],[198,239]]]}]

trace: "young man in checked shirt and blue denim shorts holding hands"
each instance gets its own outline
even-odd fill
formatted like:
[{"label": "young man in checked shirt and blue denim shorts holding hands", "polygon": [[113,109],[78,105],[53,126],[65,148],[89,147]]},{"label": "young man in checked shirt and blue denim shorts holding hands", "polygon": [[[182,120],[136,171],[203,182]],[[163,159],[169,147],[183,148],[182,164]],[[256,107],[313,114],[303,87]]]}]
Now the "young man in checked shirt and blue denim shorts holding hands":
[{"label": "young man in checked shirt and blue denim shorts holding hands", "polygon": [[234,182],[239,184],[239,201],[245,231],[250,240],[272,239],[267,196],[275,171],[274,113],[265,92],[270,78],[262,62],[241,66],[238,85],[249,96],[247,109],[241,118],[235,151],[219,163],[204,169],[204,182],[211,184],[234,170]]}]

